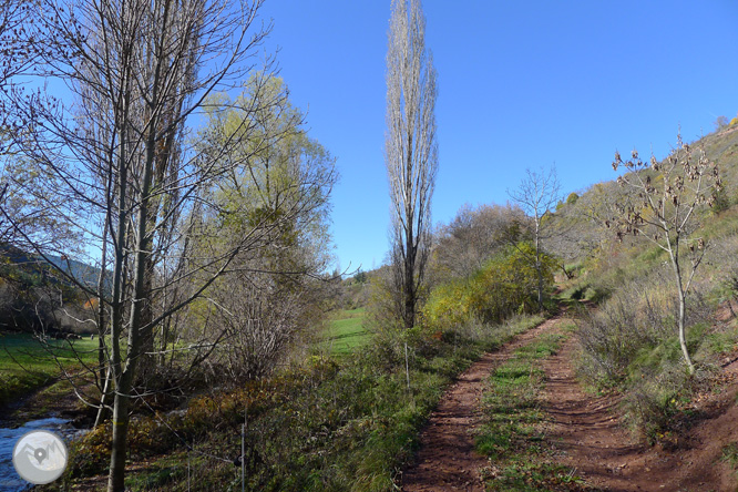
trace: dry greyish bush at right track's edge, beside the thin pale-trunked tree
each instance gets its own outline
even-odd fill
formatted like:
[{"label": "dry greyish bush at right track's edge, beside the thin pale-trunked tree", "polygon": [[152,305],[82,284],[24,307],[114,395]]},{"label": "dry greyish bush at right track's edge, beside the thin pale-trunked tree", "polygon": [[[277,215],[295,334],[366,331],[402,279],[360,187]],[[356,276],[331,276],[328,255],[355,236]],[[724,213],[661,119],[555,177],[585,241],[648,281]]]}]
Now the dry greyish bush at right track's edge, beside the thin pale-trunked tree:
[{"label": "dry greyish bush at right track's edge, beside the thin pale-trunked tree", "polygon": [[[677,445],[674,417],[706,371],[688,375],[677,337],[677,293],[666,268],[626,283],[598,310],[584,314],[578,369],[596,386],[621,386],[625,421],[640,439]],[[707,290],[706,284],[693,287],[686,314],[687,344],[701,368],[709,362],[698,350],[709,339]]]}]

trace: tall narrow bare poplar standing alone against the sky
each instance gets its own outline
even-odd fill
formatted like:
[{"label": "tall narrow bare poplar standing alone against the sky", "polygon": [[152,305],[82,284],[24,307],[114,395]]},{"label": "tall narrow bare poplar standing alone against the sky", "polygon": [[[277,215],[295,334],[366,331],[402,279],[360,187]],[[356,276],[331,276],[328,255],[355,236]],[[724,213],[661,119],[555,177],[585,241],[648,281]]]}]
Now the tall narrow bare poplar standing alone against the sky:
[{"label": "tall narrow bare poplar standing alone against the sky", "polygon": [[426,49],[420,0],[393,0],[387,50],[385,161],[398,318],[406,328],[416,322],[431,246],[431,198],[438,172],[435,99],[435,70]]}]

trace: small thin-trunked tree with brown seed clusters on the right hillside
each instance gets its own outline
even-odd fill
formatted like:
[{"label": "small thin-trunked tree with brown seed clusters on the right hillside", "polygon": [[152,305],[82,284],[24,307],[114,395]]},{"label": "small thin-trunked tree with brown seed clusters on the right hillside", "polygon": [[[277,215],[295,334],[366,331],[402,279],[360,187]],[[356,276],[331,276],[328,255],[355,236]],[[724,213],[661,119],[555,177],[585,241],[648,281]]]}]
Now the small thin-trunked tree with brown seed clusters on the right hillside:
[{"label": "small thin-trunked tree with brown seed clusters on the right hillside", "polygon": [[652,155],[650,162],[645,163],[636,151],[623,161],[616,152],[613,170],[621,166],[627,174],[619,176],[617,183],[628,193],[618,204],[617,216],[606,225],[615,228],[618,239],[643,236],[668,254],[679,301],[679,345],[691,375],[695,366],[685,335],[686,301],[707,247],[705,238],[695,237],[694,233],[698,228],[698,209],[714,206],[722,189],[718,166],[707,158],[704,148],[684,143],[681,135],[664,162]]}]

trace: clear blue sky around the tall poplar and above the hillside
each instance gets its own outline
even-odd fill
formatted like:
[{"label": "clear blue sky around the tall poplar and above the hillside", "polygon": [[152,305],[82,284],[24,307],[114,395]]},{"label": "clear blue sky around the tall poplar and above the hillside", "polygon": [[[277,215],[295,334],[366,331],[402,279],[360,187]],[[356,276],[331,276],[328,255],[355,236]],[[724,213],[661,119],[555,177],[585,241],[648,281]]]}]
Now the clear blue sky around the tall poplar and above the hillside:
[{"label": "clear blue sky around the tall poplar and above the hillside", "polygon": [[[614,151],[663,157],[738,112],[738,2],[424,0],[439,79],[433,222],[508,201],[526,167],[563,191],[614,177]],[[267,0],[293,102],[337,158],[340,266],[388,250],[383,161],[390,1]]]}]

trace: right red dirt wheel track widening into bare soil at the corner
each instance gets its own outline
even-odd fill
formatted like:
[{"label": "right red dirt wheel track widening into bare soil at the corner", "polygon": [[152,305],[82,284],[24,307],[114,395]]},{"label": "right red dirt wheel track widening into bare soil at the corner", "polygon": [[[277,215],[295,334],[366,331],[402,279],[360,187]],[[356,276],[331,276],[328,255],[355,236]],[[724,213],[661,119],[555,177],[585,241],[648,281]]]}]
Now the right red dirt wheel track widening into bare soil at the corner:
[{"label": "right red dirt wheel track widening into bare soil at the corner", "polygon": [[557,462],[576,469],[588,484],[605,491],[736,491],[736,472],[722,449],[738,442],[735,404],[738,362],[725,361],[722,378],[734,381],[719,394],[705,394],[700,420],[683,433],[675,450],[637,444],[618,423],[617,401],[583,392],[571,361],[574,337],[545,366],[552,427],[546,434]]}]

